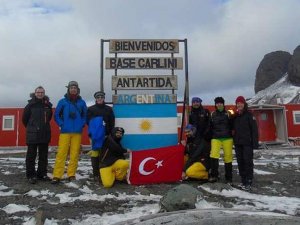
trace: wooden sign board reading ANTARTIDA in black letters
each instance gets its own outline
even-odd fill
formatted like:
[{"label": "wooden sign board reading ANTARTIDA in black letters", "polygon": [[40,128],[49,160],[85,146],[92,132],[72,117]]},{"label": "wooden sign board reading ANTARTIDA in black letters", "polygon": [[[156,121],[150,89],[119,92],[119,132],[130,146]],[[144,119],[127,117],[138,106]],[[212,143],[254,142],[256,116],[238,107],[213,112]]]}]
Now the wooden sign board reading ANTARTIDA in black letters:
[{"label": "wooden sign board reading ANTARTIDA in black letters", "polygon": [[176,75],[112,76],[112,90],[177,90]]}]

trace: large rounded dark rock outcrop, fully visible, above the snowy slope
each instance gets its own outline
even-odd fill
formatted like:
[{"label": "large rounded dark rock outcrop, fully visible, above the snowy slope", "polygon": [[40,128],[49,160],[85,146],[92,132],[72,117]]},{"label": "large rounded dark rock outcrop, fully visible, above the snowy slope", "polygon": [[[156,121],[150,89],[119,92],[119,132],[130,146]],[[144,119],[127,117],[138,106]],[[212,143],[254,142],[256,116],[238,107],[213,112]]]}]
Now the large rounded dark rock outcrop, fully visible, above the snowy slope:
[{"label": "large rounded dark rock outcrop, fully visible, above the snowy slope", "polygon": [[291,54],[285,51],[276,51],[266,54],[256,70],[255,93],[266,89],[283,77],[288,71],[291,57]]}]

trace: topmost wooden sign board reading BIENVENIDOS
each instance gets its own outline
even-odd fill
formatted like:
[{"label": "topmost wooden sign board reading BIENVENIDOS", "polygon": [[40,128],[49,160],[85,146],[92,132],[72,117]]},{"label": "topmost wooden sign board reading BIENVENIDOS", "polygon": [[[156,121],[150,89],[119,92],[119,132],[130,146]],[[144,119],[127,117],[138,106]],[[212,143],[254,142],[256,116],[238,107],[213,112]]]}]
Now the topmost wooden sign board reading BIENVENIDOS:
[{"label": "topmost wooden sign board reading BIENVENIDOS", "polygon": [[114,39],[109,41],[109,53],[179,53],[179,42],[172,39]]}]

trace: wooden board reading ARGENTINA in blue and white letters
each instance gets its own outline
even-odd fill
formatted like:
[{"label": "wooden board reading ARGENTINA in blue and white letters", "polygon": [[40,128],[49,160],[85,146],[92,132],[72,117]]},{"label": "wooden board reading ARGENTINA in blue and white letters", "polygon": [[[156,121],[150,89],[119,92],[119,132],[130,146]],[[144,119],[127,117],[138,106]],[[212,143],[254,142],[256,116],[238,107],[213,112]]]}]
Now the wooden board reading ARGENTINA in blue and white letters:
[{"label": "wooden board reading ARGENTINA in blue and white letters", "polygon": [[176,94],[120,94],[113,95],[113,104],[171,104]]}]

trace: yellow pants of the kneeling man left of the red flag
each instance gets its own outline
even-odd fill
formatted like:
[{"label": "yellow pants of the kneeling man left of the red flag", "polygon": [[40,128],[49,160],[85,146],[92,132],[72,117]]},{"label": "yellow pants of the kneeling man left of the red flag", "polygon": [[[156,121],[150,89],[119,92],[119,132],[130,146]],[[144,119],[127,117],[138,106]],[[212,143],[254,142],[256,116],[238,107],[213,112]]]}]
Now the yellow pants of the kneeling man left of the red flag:
[{"label": "yellow pants of the kneeling man left of the red flag", "polygon": [[114,185],[115,180],[122,181],[126,178],[129,161],[124,159],[117,160],[114,164],[100,169],[102,184],[105,188]]}]

